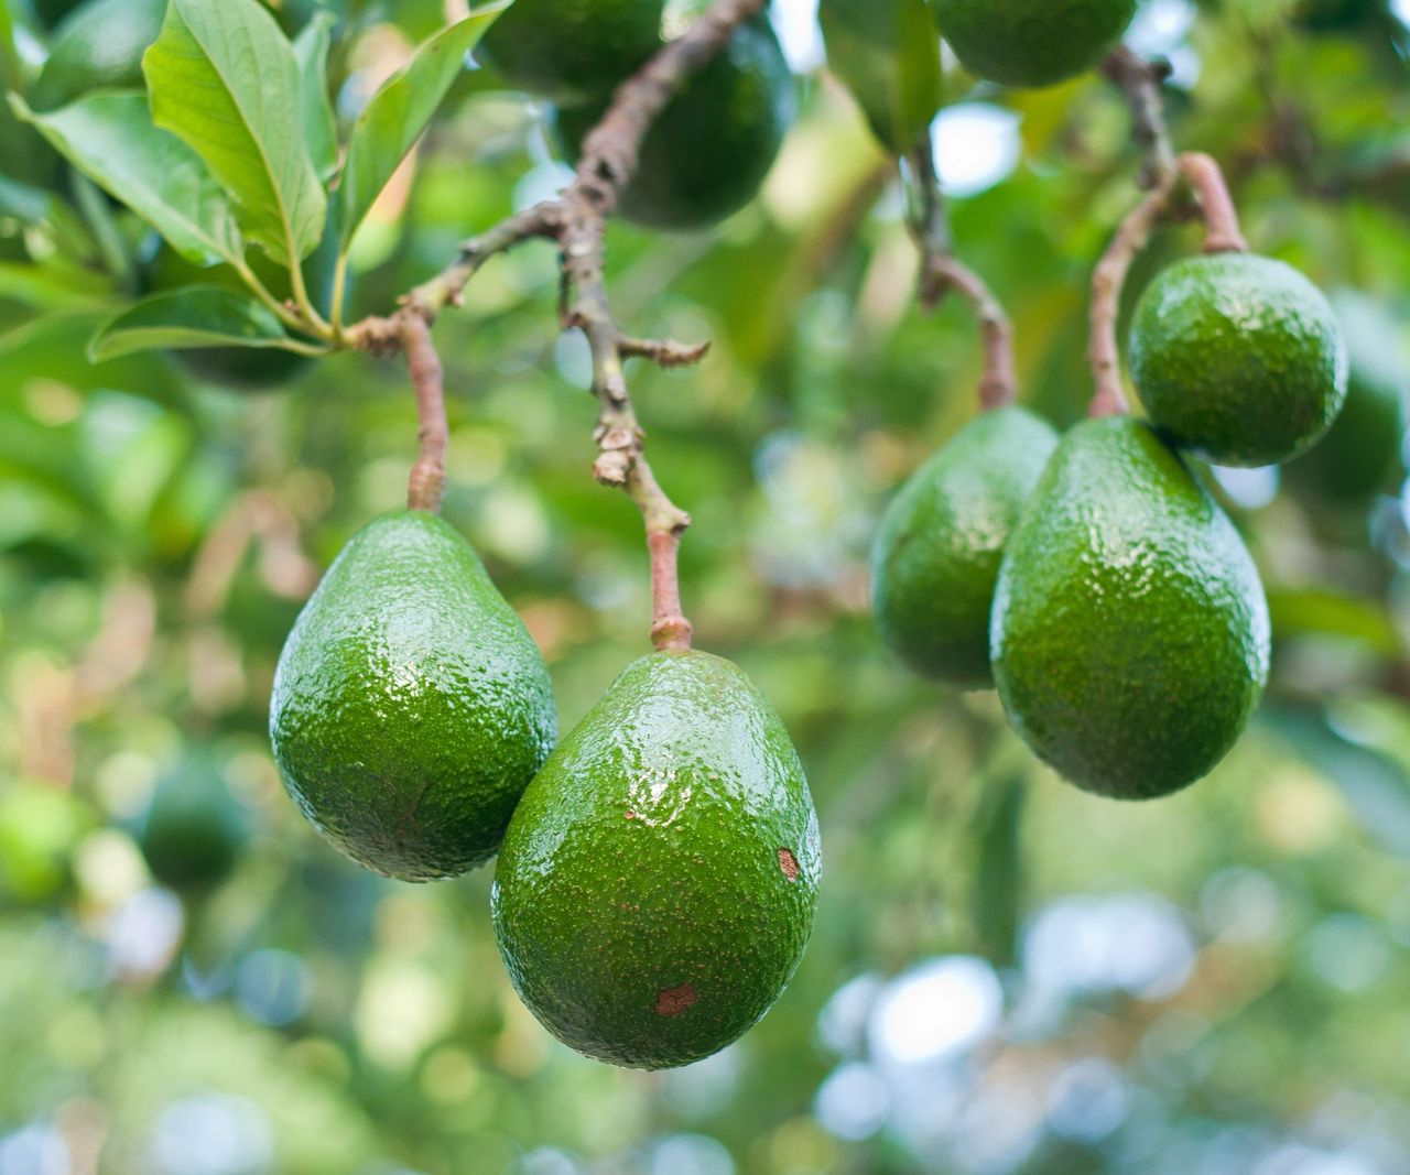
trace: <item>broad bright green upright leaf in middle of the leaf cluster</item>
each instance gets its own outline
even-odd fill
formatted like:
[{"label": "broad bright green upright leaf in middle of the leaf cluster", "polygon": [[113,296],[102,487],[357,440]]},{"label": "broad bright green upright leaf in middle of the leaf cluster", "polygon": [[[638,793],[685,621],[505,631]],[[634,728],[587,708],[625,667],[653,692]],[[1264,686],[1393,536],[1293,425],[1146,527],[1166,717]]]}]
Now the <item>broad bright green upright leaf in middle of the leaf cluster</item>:
[{"label": "broad bright green upright leaf in middle of the leaf cluster", "polygon": [[152,118],[240,206],[247,235],[288,265],[313,252],[327,194],[305,137],[299,63],[257,0],[172,0],[142,58]]}]

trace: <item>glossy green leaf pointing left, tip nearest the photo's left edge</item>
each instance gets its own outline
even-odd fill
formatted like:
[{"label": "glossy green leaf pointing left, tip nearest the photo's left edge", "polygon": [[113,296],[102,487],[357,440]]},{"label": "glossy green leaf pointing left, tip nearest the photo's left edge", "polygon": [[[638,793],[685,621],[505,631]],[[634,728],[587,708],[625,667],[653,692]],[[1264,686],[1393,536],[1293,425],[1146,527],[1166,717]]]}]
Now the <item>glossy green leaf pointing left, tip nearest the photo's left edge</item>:
[{"label": "glossy green leaf pointing left, tip nearest the photo's left edge", "polygon": [[186,144],[152,124],[140,93],[99,92],[49,114],[18,99],[20,117],[75,168],[199,265],[243,256],[230,200]]}]

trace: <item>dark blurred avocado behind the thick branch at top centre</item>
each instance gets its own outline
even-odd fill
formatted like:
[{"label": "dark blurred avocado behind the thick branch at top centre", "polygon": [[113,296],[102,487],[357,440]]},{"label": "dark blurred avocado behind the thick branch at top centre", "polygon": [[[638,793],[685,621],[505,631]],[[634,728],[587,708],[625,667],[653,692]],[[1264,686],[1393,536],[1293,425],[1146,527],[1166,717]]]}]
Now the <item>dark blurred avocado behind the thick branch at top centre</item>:
[{"label": "dark blurred avocado behind the thick branch at top centre", "polygon": [[[608,99],[560,107],[553,130],[577,162]],[[788,62],[764,20],[743,25],[647,131],[622,216],[649,228],[702,228],[759,192],[797,113]]]}]

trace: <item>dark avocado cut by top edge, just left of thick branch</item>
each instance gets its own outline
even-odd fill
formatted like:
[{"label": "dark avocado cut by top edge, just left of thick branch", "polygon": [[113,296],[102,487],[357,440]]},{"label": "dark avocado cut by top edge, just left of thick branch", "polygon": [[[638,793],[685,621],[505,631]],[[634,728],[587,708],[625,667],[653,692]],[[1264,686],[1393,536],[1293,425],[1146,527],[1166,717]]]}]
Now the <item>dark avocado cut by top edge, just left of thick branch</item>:
[{"label": "dark avocado cut by top edge, just left of thick branch", "polygon": [[522,90],[601,99],[660,46],[664,0],[515,0],[475,51]]}]

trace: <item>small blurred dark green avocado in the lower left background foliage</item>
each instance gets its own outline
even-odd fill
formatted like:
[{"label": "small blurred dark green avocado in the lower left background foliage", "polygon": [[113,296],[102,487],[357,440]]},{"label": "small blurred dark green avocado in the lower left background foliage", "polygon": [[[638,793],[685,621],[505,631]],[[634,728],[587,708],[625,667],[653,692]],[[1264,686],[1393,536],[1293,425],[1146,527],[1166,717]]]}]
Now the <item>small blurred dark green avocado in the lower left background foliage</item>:
[{"label": "small blurred dark green avocado in the lower left background foliage", "polygon": [[250,838],[250,812],[214,759],[189,755],[152,792],[137,843],[147,868],[176,890],[204,890],[235,868]]}]

